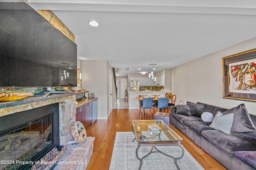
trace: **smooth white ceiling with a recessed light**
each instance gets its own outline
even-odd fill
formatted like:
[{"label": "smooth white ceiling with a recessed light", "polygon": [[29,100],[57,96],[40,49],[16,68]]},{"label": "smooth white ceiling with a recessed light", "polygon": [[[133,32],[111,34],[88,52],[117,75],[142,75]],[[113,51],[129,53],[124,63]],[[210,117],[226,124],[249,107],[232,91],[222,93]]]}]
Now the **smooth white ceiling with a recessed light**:
[{"label": "smooth white ceiling with a recessed light", "polygon": [[[28,0],[52,10],[76,37],[78,58],[172,68],[256,37],[255,0]],[[92,27],[90,20],[99,22]],[[141,70],[138,70],[141,68]]]}]

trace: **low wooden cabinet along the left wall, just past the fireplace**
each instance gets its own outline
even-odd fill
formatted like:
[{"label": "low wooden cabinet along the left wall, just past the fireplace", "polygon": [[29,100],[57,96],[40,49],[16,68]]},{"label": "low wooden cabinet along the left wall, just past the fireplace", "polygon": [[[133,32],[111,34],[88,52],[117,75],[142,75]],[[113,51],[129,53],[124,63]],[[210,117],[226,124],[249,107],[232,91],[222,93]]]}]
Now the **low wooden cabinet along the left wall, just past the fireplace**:
[{"label": "low wooden cabinet along the left wall, just past the fireplace", "polygon": [[76,121],[80,121],[88,128],[97,119],[97,99],[92,101],[80,101],[76,108]]}]

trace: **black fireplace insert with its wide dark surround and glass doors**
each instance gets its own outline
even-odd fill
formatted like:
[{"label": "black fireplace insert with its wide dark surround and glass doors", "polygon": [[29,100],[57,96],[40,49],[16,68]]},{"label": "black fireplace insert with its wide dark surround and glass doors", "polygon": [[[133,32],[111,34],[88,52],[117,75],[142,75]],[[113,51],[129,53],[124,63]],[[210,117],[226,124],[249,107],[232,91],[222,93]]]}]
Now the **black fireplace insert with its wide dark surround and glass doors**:
[{"label": "black fireplace insert with its wide dark surround and glass doors", "polygon": [[0,170],[31,168],[59,145],[59,103],[0,117]]}]

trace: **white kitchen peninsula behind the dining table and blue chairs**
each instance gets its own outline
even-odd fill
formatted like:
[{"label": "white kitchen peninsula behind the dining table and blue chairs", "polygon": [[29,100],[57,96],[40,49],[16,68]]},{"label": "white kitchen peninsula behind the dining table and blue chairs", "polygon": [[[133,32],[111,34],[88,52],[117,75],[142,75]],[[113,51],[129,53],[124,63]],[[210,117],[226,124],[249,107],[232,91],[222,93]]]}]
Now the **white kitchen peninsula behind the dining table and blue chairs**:
[{"label": "white kitchen peninsula behind the dining table and blue chairs", "polygon": [[165,97],[166,93],[166,91],[128,91],[129,109],[139,109],[139,101],[136,99],[139,95],[160,95],[160,97]]}]

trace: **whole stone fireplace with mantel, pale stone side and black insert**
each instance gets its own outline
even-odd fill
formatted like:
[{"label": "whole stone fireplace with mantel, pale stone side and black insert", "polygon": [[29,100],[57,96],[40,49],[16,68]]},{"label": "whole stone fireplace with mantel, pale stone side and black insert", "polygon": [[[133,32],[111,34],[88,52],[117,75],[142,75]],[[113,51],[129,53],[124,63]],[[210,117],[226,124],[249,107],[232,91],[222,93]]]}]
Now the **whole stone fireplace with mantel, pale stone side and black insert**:
[{"label": "whole stone fireplace with mantel, pale stone side and black insert", "polygon": [[[14,169],[30,168],[31,164],[19,165],[17,160],[39,160],[54,146],[74,140],[75,99],[74,94],[60,94],[0,103],[0,160],[14,161],[9,162]],[[1,164],[0,169],[6,166]]]}]

